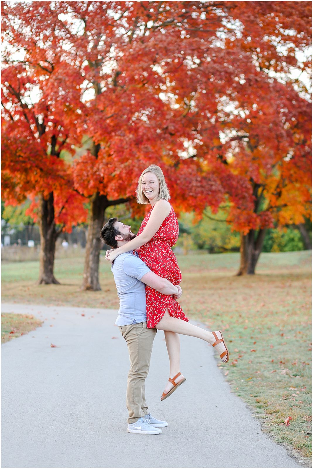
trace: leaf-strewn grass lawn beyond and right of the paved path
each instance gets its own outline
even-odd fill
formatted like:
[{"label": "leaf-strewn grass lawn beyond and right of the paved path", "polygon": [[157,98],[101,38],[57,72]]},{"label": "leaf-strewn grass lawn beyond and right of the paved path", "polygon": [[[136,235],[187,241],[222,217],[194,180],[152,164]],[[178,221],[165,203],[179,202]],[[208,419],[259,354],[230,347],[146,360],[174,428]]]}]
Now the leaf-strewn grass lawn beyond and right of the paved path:
[{"label": "leaf-strewn grass lawn beyond and right of the paved path", "polygon": [[[257,275],[237,277],[239,255],[178,256],[180,304],[186,314],[221,329],[230,349],[217,362],[264,431],[311,456],[311,252],[263,253]],[[100,292],[82,292],[83,259],[58,259],[62,285],[35,285],[37,262],[2,263],[2,301],[118,308],[110,265],[101,259]],[[255,351],[253,351],[255,350]],[[291,417],[290,425],[284,421]]]}]

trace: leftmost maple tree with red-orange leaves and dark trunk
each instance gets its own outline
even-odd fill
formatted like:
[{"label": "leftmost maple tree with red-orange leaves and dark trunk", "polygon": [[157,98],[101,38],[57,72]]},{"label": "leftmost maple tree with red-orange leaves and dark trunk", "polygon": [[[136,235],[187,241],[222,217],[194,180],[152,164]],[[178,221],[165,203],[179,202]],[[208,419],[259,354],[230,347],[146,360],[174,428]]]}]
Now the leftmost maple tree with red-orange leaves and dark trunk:
[{"label": "leftmost maple tree with red-orange leaves and dark trunk", "polygon": [[[24,12],[22,5],[16,8]],[[4,6],[2,197],[6,204],[32,200],[28,214],[40,231],[38,282],[59,283],[53,274],[55,243],[62,231],[86,220],[86,199],[75,191],[71,165],[61,157],[71,146],[63,102],[67,81],[51,79],[60,51],[53,63],[45,61],[26,24],[16,28],[17,17],[29,22],[26,15],[12,15]]]}]

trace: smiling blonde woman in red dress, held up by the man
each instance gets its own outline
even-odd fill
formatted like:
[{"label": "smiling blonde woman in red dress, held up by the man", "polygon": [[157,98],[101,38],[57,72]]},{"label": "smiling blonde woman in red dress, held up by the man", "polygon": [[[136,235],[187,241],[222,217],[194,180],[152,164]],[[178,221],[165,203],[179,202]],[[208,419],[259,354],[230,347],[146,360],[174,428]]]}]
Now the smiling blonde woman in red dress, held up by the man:
[{"label": "smiling blonde woman in red dress, held up by the man", "polygon": [[[171,250],[178,239],[179,226],[170,199],[164,174],[159,166],[151,165],[143,171],[137,186],[139,204],[151,204],[151,210],[142,221],[137,236],[115,250],[107,251],[106,258],[114,259],[130,250],[139,249],[139,256],[152,272],[179,285],[181,272]],[[188,318],[173,296],[162,295],[146,286],[147,327],[163,330],[170,359],[170,378],[161,400],[166,399],[186,378],[180,373],[179,335],[190,335],[216,347],[224,363],[229,360],[228,348],[221,331],[209,332],[188,323]]]}]

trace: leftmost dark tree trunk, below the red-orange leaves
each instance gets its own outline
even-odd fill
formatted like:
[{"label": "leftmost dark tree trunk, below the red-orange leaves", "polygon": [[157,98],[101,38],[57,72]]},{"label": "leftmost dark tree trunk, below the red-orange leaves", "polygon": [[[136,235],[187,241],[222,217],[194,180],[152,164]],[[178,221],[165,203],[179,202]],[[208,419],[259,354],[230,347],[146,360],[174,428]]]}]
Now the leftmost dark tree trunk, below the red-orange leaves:
[{"label": "leftmost dark tree trunk, below the red-orange leaves", "polygon": [[38,226],[40,233],[40,257],[38,284],[59,284],[53,275],[55,243],[59,233],[55,227],[53,192],[45,199],[40,197],[38,209]]}]

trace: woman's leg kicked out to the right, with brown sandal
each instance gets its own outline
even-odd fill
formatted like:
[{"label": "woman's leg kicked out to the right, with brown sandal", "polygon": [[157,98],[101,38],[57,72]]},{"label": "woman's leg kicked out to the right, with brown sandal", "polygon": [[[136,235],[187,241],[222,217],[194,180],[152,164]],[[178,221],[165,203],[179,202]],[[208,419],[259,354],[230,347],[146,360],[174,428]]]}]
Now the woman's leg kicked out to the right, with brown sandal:
[{"label": "woman's leg kicked out to the right, with brown sandal", "polygon": [[[173,318],[170,316],[170,313],[166,309],[165,314],[161,321],[159,321],[156,325],[156,328],[161,331],[170,331],[176,332],[178,334],[183,335],[190,335],[192,337],[198,337],[199,339],[205,340],[209,344],[214,344],[216,338],[214,337],[213,333],[210,331],[206,331],[201,327],[196,325],[190,324],[189,322],[183,321],[182,319]],[[221,339],[221,333],[216,332],[218,339]],[[216,351],[219,355],[221,355],[225,350],[225,346],[223,342],[220,342],[215,346]],[[223,362],[226,362],[227,354],[222,358]],[[180,378],[180,377],[179,377]]]}]

